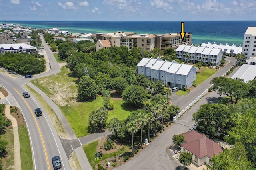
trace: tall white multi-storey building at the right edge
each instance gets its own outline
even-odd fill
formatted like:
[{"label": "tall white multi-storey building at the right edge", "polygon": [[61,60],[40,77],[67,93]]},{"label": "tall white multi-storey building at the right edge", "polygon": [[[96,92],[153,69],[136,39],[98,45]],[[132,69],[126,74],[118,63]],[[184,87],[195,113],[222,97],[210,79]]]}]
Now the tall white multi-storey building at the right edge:
[{"label": "tall white multi-storey building at the right edge", "polygon": [[248,27],[244,33],[242,54],[246,56],[246,63],[250,57],[256,56],[256,27]]}]

